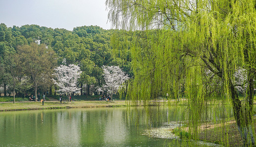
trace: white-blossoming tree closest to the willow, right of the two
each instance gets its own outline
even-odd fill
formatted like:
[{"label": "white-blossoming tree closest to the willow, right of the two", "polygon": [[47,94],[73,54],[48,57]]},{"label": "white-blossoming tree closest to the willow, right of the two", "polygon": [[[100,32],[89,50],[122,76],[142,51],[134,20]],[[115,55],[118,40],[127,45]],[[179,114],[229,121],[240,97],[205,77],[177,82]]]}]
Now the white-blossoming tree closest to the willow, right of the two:
[{"label": "white-blossoming tree closest to the willow, right of the two", "polygon": [[106,84],[100,88],[100,91],[108,91],[112,100],[113,94],[123,87],[123,83],[129,77],[118,66],[103,66],[102,69]]}]

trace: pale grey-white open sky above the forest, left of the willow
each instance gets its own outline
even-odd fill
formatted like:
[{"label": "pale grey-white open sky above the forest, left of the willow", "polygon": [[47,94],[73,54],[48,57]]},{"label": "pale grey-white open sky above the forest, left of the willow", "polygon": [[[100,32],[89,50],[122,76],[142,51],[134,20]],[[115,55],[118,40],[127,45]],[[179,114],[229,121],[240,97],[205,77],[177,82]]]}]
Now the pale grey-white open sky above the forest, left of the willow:
[{"label": "pale grey-white open sky above the forest, left of the willow", "polygon": [[65,28],[98,25],[110,29],[106,0],[0,0],[0,24]]}]

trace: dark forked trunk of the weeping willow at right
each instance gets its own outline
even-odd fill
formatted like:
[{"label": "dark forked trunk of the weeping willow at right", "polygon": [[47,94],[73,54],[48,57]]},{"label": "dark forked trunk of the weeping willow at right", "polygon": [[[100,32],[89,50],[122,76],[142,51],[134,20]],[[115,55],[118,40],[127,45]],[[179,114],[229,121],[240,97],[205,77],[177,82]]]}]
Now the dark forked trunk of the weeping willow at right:
[{"label": "dark forked trunk of the weeping willow at right", "polygon": [[[249,78],[248,81],[253,81],[253,79]],[[238,94],[235,90],[235,87],[231,82],[229,82],[229,88],[230,88],[235,120],[237,123],[238,130],[240,132],[240,135],[243,139],[244,146],[254,146],[255,140],[254,140],[254,134],[252,131],[253,82],[251,82],[248,87],[249,88],[248,92],[251,93],[252,95],[247,96],[246,98],[247,102],[244,108],[242,107],[242,103],[238,98]]]}]

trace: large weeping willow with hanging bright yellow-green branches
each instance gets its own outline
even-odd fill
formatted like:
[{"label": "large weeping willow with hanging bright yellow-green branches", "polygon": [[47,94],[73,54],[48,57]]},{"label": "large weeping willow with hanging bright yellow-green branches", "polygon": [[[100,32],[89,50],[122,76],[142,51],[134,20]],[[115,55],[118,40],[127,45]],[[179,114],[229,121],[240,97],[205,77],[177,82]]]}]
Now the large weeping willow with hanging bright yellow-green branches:
[{"label": "large weeping willow with hanging bright yellow-green branches", "polygon": [[[133,34],[137,41],[130,49],[130,98],[166,93],[179,98],[184,89],[189,126],[196,132],[209,91],[216,93],[209,86],[215,79],[221,96],[231,100],[244,144],[255,145],[255,0],[107,0],[106,5],[113,26],[140,32]],[[233,76],[240,67],[247,71],[244,102]]]}]

